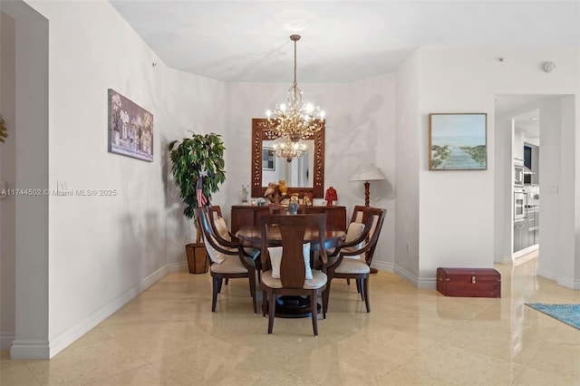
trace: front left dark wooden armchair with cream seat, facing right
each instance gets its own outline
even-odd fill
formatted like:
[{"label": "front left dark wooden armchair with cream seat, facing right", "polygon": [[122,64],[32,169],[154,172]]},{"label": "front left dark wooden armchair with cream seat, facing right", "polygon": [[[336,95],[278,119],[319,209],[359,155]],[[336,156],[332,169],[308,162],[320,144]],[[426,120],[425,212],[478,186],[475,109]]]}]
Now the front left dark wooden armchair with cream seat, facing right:
[{"label": "front left dark wooden armchair with cream seat, facing right", "polygon": [[239,242],[227,242],[214,233],[209,218],[213,216],[208,207],[194,208],[196,227],[201,229],[206,251],[209,256],[209,273],[212,277],[211,311],[216,312],[218,294],[224,279],[247,277],[250,285],[250,295],[256,309],[256,263],[244,252]]}]

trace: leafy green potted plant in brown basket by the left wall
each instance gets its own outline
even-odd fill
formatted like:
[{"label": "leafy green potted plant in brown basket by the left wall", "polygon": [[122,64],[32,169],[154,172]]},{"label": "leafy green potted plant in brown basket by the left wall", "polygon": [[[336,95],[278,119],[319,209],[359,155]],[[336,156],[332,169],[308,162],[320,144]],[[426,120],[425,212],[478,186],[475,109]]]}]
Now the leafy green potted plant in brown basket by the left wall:
[{"label": "leafy green potted plant in brown basket by the left wall", "polygon": [[[191,134],[191,138],[169,143],[171,174],[179,187],[180,197],[186,204],[183,214],[188,218],[193,218],[194,207],[208,206],[211,195],[216,193],[219,185],[226,180],[224,170],[226,148],[221,136],[213,132],[209,134],[192,132]],[[196,243],[186,246],[191,274],[208,272],[208,257],[200,238],[201,233],[198,229]]]}]

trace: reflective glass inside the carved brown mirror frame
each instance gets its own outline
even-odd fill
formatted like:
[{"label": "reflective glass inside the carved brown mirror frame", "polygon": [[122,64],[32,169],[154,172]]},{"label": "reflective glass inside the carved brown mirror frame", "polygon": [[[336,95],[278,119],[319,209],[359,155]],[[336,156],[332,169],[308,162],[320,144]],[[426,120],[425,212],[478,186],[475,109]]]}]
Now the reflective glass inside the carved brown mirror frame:
[{"label": "reflective glass inside the carved brown mirror frame", "polygon": [[304,140],[304,155],[290,162],[275,156],[274,144],[280,141],[262,142],[262,180],[275,182],[284,179],[288,187],[313,188],[311,165],[314,163],[314,140]]}]

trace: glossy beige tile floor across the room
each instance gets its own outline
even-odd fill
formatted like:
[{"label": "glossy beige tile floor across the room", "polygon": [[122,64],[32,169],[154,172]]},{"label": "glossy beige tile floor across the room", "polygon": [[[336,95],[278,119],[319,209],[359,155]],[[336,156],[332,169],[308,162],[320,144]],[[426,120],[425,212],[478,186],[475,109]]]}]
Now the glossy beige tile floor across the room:
[{"label": "glossy beige tile floor across the room", "polygon": [[176,273],[50,361],[11,361],[8,385],[580,385],[580,330],[525,302],[580,303],[536,277],[536,258],[497,265],[502,298],[451,298],[372,275],[372,312],[333,282],[327,319],[267,319],[236,279],[210,312],[208,275]]}]

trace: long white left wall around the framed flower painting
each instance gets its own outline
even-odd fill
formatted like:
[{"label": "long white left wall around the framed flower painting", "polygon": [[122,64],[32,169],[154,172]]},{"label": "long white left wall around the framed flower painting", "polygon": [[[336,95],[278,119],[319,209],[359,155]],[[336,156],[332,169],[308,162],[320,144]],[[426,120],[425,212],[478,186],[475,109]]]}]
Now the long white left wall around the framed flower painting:
[{"label": "long white left wall around the framed flower painting", "polygon": [[[48,19],[44,51],[39,51],[47,53],[50,43],[50,60],[37,65],[50,82],[50,94],[38,111],[50,111],[28,114],[41,121],[30,124],[31,130],[47,124],[48,130],[33,131],[34,140],[21,142],[43,149],[35,150],[35,158],[16,159],[17,176],[19,169],[25,176],[31,171],[41,176],[32,188],[55,189],[62,180],[73,192],[106,188],[117,194],[45,196],[44,231],[17,227],[16,246],[27,249],[16,254],[13,358],[52,357],[170,269],[185,268],[184,246],[195,232],[182,215],[179,193],[171,188],[166,193],[167,145],[188,137],[188,130],[222,132],[226,121],[214,112],[226,102],[223,83],[167,68],[107,1],[30,5]],[[18,25],[16,18],[17,33]],[[34,30],[34,23],[20,25]],[[20,49],[18,39],[17,34]],[[153,162],[107,152],[109,88],[153,114]],[[16,110],[28,107],[16,103]],[[21,214],[34,209],[24,204],[17,207],[17,224]],[[43,224],[43,210],[29,216],[34,224]],[[44,259],[30,246],[42,246]],[[27,259],[35,265],[19,275],[18,265]],[[23,294],[35,303],[21,302]]]}]

